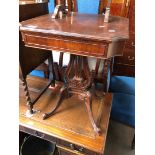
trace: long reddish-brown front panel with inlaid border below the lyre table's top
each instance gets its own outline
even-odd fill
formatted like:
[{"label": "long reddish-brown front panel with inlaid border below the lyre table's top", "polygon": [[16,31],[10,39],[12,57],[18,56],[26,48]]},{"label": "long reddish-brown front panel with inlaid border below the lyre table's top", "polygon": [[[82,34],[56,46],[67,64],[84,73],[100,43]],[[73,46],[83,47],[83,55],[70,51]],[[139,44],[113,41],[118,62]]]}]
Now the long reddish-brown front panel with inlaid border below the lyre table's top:
[{"label": "long reddish-brown front panel with inlaid border below the lyre table's top", "polygon": [[73,40],[61,37],[42,37],[25,34],[27,46],[69,52],[75,55],[103,58],[106,55],[107,44],[85,40]]}]

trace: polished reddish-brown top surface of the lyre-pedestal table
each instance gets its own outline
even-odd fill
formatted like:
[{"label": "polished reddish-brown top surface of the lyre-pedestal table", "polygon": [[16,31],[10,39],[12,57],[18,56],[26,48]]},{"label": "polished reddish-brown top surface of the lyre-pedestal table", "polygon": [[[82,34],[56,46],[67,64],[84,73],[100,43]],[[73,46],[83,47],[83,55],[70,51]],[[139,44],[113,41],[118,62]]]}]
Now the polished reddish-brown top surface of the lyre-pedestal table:
[{"label": "polished reddish-brown top surface of the lyre-pedestal table", "polygon": [[21,22],[20,30],[97,41],[117,41],[128,39],[129,20],[110,16],[110,22],[104,23],[103,15],[71,12],[62,19],[52,19],[52,14],[47,14]]}]

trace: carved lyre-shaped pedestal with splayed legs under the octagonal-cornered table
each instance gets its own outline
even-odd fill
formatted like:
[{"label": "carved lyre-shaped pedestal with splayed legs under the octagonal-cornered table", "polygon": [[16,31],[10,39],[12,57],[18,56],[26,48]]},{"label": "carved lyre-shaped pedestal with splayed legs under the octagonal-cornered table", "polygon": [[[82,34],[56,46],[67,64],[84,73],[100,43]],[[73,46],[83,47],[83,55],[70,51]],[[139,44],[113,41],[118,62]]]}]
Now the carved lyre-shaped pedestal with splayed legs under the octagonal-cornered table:
[{"label": "carved lyre-shaped pedestal with splayed legs under the octagonal-cornered table", "polygon": [[59,99],[52,111],[43,115],[43,119],[50,117],[60,106],[63,99],[72,94],[76,94],[85,101],[89,120],[95,133],[99,134],[100,128],[97,127],[92,114],[92,94],[90,92],[91,86],[92,75],[89,70],[87,57],[71,54],[70,62],[65,75],[65,85],[60,90],[61,92]]}]

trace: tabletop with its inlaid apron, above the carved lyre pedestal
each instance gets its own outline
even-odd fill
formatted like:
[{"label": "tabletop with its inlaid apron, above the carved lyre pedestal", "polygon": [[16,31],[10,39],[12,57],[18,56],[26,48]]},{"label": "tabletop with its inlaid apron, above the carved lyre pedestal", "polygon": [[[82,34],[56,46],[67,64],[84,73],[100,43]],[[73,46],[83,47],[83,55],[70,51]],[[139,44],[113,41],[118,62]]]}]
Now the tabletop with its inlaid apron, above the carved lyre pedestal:
[{"label": "tabletop with its inlaid apron, above the carved lyre pedestal", "polygon": [[69,13],[53,19],[46,14],[21,22],[20,31],[28,47],[105,59],[123,54],[129,20],[111,16],[104,23],[103,15]]}]

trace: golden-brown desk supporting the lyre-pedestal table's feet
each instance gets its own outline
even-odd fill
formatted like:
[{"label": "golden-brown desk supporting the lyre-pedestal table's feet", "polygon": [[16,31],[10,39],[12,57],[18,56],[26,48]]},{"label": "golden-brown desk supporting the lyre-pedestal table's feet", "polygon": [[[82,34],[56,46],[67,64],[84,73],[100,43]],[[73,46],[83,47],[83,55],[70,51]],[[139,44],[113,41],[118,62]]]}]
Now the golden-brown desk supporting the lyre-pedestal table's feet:
[{"label": "golden-brown desk supporting the lyre-pedestal table's feet", "polygon": [[[47,84],[48,80],[39,77],[27,77],[31,88],[32,99]],[[37,84],[36,84],[37,82]],[[85,112],[84,101],[77,96],[64,100],[57,113],[47,120],[42,120],[42,114],[48,108],[55,105],[59,96],[59,89],[62,83],[57,82],[57,92],[50,88],[40,97],[34,109],[37,111],[33,117],[25,115],[27,111],[24,87],[20,83],[19,97],[19,130],[39,138],[56,143],[60,155],[101,155],[104,153],[105,142],[109,124],[112,94],[107,93],[102,96],[102,92],[97,90],[100,98],[93,95],[93,114],[96,121],[99,121],[101,135],[96,135]],[[82,102],[82,103],[81,103]],[[81,117],[82,116],[82,117]],[[100,120],[99,120],[100,119]]]}]

